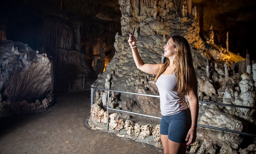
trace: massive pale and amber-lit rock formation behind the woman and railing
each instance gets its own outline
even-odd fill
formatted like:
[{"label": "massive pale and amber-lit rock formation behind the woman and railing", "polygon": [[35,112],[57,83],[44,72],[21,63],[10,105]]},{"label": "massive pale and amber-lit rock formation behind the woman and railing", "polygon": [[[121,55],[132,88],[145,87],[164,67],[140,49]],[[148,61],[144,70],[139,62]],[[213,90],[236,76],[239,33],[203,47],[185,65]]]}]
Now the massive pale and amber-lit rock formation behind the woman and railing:
[{"label": "massive pale and amber-lit rock formation behind the woman and railing", "polygon": [[[215,45],[214,36],[212,36],[213,32],[210,32],[210,38],[205,36],[206,41],[203,41],[199,36],[198,22],[192,16],[192,12],[189,11],[192,9],[188,8],[187,4],[182,1],[175,5],[171,1],[168,2],[168,5],[164,1],[159,1],[158,4],[146,1],[144,4],[139,5],[138,1],[122,0],[119,0],[119,4],[122,12],[122,34],[116,34],[114,43],[116,53],[108,64],[106,71],[94,82],[94,87],[104,88],[104,81],[108,81],[111,84],[111,89],[114,90],[158,95],[154,76],[139,71],[132,58],[127,39],[133,25],[136,25],[137,29],[134,36],[137,38],[139,54],[145,63],[162,63],[162,47],[166,43],[164,42],[166,38],[172,35],[182,35],[187,38],[194,58],[200,101],[255,106],[255,88],[252,76],[243,73],[246,71],[246,65],[243,62],[245,58]],[[209,68],[206,68],[206,66]],[[112,76],[110,80],[105,80],[105,74],[107,73]],[[207,77],[207,73],[210,74],[208,75],[209,77]],[[245,87],[248,89],[245,89]],[[227,94],[228,91],[230,91],[230,95]],[[96,93],[99,92],[96,90]],[[129,108],[129,111],[140,111],[144,114],[159,116],[159,101],[157,99],[145,96],[128,96],[123,93],[112,93],[111,97],[111,101],[116,101],[116,106],[124,106],[121,102],[135,101],[136,103]],[[98,97],[98,99],[101,100],[103,97]],[[104,99],[106,98],[104,97]],[[103,105],[102,108],[105,108],[105,106]],[[149,108],[150,110],[148,110]],[[255,123],[255,118],[252,116],[253,113],[254,110],[251,109],[200,103],[198,123],[246,132],[247,123]],[[136,116],[129,118],[129,116],[123,116],[119,113],[119,117],[133,119]],[[134,118],[134,120],[137,119]],[[94,127],[94,125],[98,124],[90,123],[90,125]],[[145,134],[150,134],[149,132],[151,132],[151,135],[143,139],[144,133],[142,131],[145,125],[140,125],[140,130],[136,129],[136,133],[133,134],[135,126],[138,128],[137,123],[129,127],[124,126],[125,129],[131,129],[127,133],[124,133],[121,129],[117,134],[122,137],[129,137],[148,144],[161,146],[159,138],[157,138],[158,135],[154,133],[151,136],[153,132],[157,131],[157,128],[152,131],[148,129]],[[244,139],[239,134],[234,135],[233,133],[208,128],[198,127],[197,132],[197,143],[199,145],[195,143],[195,145],[188,147],[197,153],[217,153],[219,147],[222,147],[221,153],[237,151]],[[150,138],[154,138],[154,141],[152,142]]]}]

